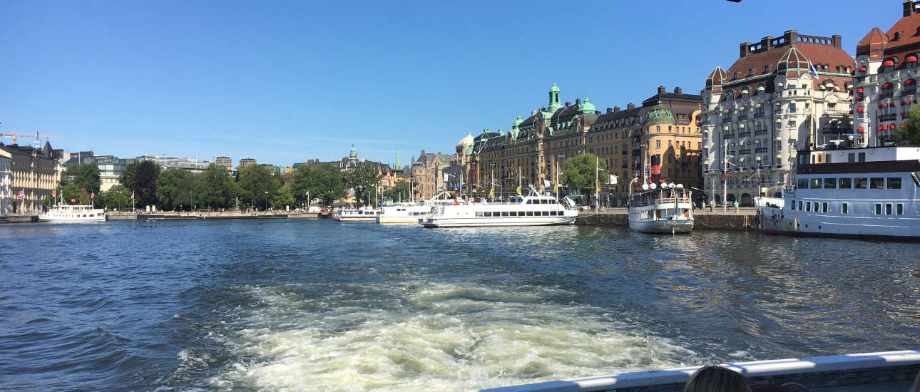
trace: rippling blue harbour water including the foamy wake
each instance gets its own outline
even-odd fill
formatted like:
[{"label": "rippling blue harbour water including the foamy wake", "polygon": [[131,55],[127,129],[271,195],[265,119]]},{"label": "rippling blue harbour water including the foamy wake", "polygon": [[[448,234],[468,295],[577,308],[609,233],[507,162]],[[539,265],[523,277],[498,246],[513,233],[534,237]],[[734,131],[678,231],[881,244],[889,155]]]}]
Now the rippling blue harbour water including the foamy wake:
[{"label": "rippling blue harbour water including the foamy wake", "polygon": [[920,347],[920,246],[330,221],[0,226],[0,390],[473,390]]}]

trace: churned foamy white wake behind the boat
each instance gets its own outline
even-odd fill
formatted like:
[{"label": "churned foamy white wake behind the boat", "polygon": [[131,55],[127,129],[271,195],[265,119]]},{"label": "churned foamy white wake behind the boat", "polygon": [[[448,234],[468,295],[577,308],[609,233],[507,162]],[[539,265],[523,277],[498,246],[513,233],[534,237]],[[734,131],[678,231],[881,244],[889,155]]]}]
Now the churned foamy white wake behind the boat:
[{"label": "churned foamy white wake behind the boat", "polygon": [[[400,306],[305,298],[303,285],[247,287],[259,309],[224,343],[246,363],[213,386],[267,390],[464,391],[682,364],[672,342],[542,287],[358,285]],[[339,292],[341,294],[341,292]],[[358,295],[361,296],[361,295]],[[318,311],[317,311],[318,310]]]}]

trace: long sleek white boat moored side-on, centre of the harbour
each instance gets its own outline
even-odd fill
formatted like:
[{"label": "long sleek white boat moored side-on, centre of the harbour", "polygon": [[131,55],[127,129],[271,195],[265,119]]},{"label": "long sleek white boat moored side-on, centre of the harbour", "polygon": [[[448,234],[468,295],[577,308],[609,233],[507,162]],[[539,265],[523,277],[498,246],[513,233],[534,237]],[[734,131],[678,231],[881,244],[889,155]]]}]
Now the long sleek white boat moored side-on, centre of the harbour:
[{"label": "long sleek white boat moored side-on, centre of the harbour", "polygon": [[424,227],[572,225],[578,217],[575,205],[561,204],[552,195],[531,188],[527,196],[508,202],[455,203],[431,207],[431,215],[419,219]]}]

